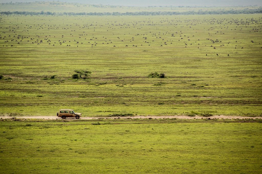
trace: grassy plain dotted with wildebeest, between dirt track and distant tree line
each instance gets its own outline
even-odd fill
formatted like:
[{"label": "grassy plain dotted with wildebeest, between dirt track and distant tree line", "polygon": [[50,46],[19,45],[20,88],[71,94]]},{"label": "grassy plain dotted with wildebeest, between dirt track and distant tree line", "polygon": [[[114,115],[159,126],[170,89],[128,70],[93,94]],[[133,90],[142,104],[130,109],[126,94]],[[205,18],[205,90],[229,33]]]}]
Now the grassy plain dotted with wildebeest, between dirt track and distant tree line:
[{"label": "grassy plain dotted with wildebeest, between dirt track and distant tree line", "polygon": [[[2,15],[1,113],[261,115],[261,21],[261,14]],[[72,79],[79,69],[91,78]],[[167,78],[147,77],[155,71]]]}]

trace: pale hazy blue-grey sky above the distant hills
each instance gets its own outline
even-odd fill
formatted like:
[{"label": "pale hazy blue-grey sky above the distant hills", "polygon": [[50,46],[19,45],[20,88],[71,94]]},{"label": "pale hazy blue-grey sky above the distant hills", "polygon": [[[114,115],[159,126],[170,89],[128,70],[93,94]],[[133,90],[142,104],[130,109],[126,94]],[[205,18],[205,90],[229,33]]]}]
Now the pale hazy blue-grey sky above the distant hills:
[{"label": "pale hazy blue-grey sky above the distant hills", "polygon": [[[36,0],[12,0],[12,2],[34,2]],[[41,1],[41,0],[38,0]],[[48,0],[42,0],[48,1]],[[49,0],[52,2],[52,0]],[[57,1],[57,0],[56,0]],[[0,3],[11,2],[9,0],[0,0]],[[262,5],[262,0],[60,0],[60,2],[77,2],[84,4],[110,4],[110,5],[125,5],[125,6],[228,6],[228,5]]]}]

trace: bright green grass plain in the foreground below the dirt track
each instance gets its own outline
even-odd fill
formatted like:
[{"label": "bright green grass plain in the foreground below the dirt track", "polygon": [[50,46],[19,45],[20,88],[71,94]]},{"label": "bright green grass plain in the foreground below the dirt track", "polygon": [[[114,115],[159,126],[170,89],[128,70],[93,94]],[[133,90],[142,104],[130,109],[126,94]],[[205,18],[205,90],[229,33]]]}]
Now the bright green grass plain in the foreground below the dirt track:
[{"label": "bright green grass plain in the foreground below the dirt track", "polygon": [[0,169],[1,173],[261,173],[260,122],[4,119]]}]

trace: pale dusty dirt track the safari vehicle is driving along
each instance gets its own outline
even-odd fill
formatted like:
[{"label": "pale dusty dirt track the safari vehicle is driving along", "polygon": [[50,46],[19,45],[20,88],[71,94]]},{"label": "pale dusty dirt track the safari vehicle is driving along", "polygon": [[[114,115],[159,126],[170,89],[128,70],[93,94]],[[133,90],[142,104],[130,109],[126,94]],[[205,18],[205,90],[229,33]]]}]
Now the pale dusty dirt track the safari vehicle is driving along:
[{"label": "pale dusty dirt track the safari vehicle is driving along", "polygon": [[[14,116],[1,116],[1,118],[13,118]],[[16,118],[37,118],[37,119],[62,119],[57,116],[15,116]],[[243,117],[243,116],[224,116],[224,115],[214,115],[210,117],[201,117],[201,116],[195,116],[195,117],[189,117],[189,116],[181,116],[181,115],[173,115],[173,116],[132,116],[132,117],[80,117],[80,119],[101,119],[101,118],[108,118],[108,119],[114,119],[114,118],[177,118],[177,119],[201,119],[201,118],[220,118],[220,119],[262,119],[262,117]],[[75,120],[75,118],[66,118],[67,120]]]}]

